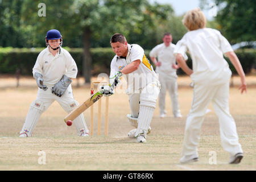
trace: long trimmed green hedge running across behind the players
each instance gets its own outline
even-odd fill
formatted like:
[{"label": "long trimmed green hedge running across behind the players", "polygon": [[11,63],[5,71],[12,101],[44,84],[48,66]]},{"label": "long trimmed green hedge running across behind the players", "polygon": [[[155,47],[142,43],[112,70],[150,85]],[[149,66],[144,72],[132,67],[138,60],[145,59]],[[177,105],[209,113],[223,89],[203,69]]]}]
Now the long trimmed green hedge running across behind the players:
[{"label": "long trimmed green hedge running across behind the players", "polygon": [[[82,75],[82,48],[68,48],[64,47],[69,51],[75,59],[77,67],[79,69],[78,75]],[[0,48],[0,73],[15,74],[19,72],[22,75],[32,75],[32,68],[34,67],[36,58],[40,51],[44,48]],[[145,50],[146,56],[149,58],[150,50]],[[92,75],[96,76],[99,73],[107,73],[110,71],[110,63],[114,57],[112,48],[91,48],[90,53],[92,55]],[[250,73],[253,65],[256,65],[256,52],[255,49],[243,49],[236,51],[238,58],[242,64],[245,73]],[[188,55],[189,57],[189,55]],[[230,69],[236,74],[233,65],[230,63],[227,57]],[[192,61],[189,57],[187,64],[192,68]],[[179,69],[178,75],[183,75],[184,72]]]}]

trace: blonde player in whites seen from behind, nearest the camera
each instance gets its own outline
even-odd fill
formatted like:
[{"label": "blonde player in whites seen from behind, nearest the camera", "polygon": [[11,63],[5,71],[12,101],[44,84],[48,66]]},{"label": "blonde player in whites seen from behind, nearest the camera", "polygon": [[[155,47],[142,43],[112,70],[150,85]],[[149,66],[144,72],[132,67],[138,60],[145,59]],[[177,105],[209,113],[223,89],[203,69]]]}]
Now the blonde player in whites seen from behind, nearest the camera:
[{"label": "blonde player in whites seen from behind, nearest the camera", "polygon": [[[189,32],[177,42],[175,55],[177,63],[194,82],[193,101],[189,111],[182,148],[181,163],[197,161],[199,156],[197,146],[200,139],[201,125],[205,111],[212,102],[218,116],[222,147],[230,154],[230,164],[240,163],[243,158],[241,144],[238,142],[236,123],[229,113],[229,79],[232,72],[224,59],[229,57],[241,77],[241,93],[246,92],[245,73],[236,53],[228,40],[212,28],[206,28],[206,18],[200,9],[188,11],[183,18],[183,24]],[[189,51],[193,70],[185,63],[185,52]]]}]

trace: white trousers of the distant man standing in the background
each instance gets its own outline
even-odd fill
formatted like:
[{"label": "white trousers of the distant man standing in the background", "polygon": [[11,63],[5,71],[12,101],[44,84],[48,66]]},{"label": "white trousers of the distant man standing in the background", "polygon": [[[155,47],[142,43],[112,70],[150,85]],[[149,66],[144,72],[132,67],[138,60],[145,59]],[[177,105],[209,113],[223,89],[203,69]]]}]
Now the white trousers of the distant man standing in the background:
[{"label": "white trousers of the distant man standing in the background", "polygon": [[168,90],[172,102],[172,113],[174,114],[175,117],[177,115],[180,115],[176,74],[160,72],[159,81],[161,84],[161,90],[158,97],[160,114],[165,114],[164,110],[166,108],[166,90]]}]

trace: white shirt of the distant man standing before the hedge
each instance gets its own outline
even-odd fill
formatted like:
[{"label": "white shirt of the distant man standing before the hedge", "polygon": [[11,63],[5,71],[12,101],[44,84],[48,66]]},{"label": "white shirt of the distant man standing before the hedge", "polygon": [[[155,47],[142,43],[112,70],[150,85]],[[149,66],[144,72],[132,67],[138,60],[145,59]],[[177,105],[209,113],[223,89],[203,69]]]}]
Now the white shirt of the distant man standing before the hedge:
[{"label": "white shirt of the distant man standing before the hedge", "polygon": [[162,43],[150,51],[150,57],[157,57],[157,60],[161,62],[160,67],[156,67],[155,69],[156,73],[164,72],[176,76],[176,69],[172,68],[172,64],[176,63],[174,48],[175,44],[171,43],[170,46],[166,47]]}]

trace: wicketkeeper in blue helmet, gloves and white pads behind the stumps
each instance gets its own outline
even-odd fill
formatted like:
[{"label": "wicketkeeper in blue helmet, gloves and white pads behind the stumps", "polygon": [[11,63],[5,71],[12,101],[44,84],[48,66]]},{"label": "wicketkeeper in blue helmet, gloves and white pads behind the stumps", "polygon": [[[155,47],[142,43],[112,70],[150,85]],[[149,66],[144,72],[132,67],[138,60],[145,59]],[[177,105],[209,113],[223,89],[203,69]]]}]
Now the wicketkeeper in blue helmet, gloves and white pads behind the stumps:
[{"label": "wicketkeeper in blue helmet, gloves and white pads behind the stumps", "polygon": [[[30,105],[19,137],[31,137],[40,115],[54,101],[59,102],[67,113],[79,105],[74,100],[71,88],[72,78],[76,78],[77,75],[77,66],[69,52],[61,48],[62,43],[62,36],[58,30],[47,32],[47,48],[39,53],[33,68],[33,75],[39,87],[38,95]],[[88,136],[89,130],[84,115],[79,115],[74,123],[79,136]]]}]

